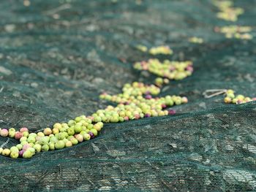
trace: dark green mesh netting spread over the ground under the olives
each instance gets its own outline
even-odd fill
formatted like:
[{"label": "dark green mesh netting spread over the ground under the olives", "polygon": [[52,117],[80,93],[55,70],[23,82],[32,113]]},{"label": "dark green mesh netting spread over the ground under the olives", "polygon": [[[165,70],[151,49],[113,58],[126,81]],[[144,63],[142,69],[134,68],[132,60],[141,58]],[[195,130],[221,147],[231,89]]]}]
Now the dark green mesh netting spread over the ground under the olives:
[{"label": "dark green mesh netting spread over the ground under the olives", "polygon": [[[245,10],[236,25],[256,36],[256,1],[235,5]],[[152,57],[137,45],[169,45],[173,55],[156,58],[191,60],[195,72],[162,89],[189,99],[174,116],[106,123],[96,139],[29,160],[0,156],[0,190],[256,191],[256,103],[202,96],[211,88],[256,95],[255,39],[214,32],[233,24],[217,12],[200,0],[1,1],[1,128],[38,131],[106,107],[102,91],[153,83],[132,68]]]}]

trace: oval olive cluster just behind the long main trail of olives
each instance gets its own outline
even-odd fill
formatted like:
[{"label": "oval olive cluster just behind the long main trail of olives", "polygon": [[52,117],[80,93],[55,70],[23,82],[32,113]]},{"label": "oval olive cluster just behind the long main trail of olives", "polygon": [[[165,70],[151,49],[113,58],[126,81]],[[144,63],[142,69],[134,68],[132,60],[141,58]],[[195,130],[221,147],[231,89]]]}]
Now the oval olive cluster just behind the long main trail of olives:
[{"label": "oval olive cluster just behind the long main trail of olives", "polygon": [[192,61],[169,61],[162,63],[157,58],[151,58],[148,61],[136,62],[134,68],[146,70],[159,77],[165,77],[169,80],[183,80],[193,72]]}]

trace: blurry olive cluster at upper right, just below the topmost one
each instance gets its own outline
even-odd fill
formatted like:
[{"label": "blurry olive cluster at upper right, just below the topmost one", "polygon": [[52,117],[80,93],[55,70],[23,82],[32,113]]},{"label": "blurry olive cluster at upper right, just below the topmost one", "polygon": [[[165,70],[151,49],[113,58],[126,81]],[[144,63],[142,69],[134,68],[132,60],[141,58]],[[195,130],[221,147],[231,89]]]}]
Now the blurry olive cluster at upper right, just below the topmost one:
[{"label": "blurry olive cluster at upper right, just below the topmost one", "polygon": [[252,31],[250,26],[223,26],[221,28],[214,28],[216,32],[225,34],[228,39],[252,39],[252,35],[249,34]]}]

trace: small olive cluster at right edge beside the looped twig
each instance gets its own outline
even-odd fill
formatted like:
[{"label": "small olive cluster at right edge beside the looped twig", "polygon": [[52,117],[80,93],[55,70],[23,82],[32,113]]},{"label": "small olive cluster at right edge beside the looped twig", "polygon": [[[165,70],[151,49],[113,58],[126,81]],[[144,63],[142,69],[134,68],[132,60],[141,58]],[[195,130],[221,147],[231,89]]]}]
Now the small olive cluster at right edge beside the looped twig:
[{"label": "small olive cluster at right edge beside the looped twig", "polygon": [[246,102],[256,101],[256,97],[250,98],[248,96],[235,95],[235,92],[233,90],[229,89],[226,92],[224,101],[227,104],[244,104]]}]

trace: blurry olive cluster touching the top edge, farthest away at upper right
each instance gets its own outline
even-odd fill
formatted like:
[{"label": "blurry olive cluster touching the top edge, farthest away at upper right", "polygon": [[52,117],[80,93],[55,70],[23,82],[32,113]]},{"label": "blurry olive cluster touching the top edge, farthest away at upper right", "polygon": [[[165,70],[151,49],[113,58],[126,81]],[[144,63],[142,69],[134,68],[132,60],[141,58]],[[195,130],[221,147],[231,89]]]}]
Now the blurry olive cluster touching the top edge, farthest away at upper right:
[{"label": "blurry olive cluster touching the top edge, farthest away at upper right", "polygon": [[220,12],[217,12],[217,18],[235,22],[238,16],[244,13],[244,9],[233,7],[233,1],[214,1]]}]

